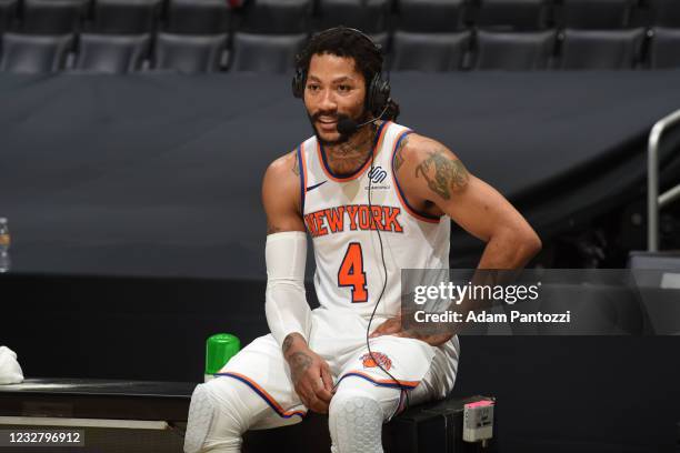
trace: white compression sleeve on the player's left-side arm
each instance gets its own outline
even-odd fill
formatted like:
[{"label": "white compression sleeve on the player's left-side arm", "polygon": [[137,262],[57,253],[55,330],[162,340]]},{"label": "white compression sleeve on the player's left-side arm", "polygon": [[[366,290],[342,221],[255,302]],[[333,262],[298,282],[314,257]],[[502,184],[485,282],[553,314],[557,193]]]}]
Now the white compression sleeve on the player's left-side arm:
[{"label": "white compression sleeve on the player's left-side arm", "polygon": [[311,309],[304,293],[307,234],[301,231],[269,234],[264,255],[264,312],[271,334],[279,344],[283,344],[283,339],[293,332],[299,332],[309,341]]}]

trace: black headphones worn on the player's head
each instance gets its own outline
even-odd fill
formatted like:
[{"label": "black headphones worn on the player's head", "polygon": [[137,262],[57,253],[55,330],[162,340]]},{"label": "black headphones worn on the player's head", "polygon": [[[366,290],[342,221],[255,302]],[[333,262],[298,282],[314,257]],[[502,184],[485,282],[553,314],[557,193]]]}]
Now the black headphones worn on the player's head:
[{"label": "black headphones worn on the player's head", "polygon": [[[382,46],[376,43],[376,41],[373,41],[371,37],[369,37],[368,34],[363,33],[360,30],[353,29],[353,28],[333,27],[333,28],[323,30],[314,34],[312,39],[314,39],[316,37],[326,34],[326,33],[331,33],[331,32],[337,32],[337,31],[342,31],[342,32],[346,32],[347,34],[354,34],[354,36],[361,37],[362,39],[371,43],[371,47],[376,53],[379,53],[382,57]],[[296,73],[292,79],[292,93],[296,98],[299,98],[299,99],[302,99],[302,97],[304,95],[304,84],[307,82],[307,68],[303,68],[301,66],[302,54],[303,53],[298,54],[296,59],[297,60],[296,61]],[[377,115],[384,110],[389,100],[390,100],[390,82],[389,80],[384,80],[382,78],[382,71],[381,71],[381,72],[376,73],[373,78],[371,79],[371,82],[368,84],[368,90],[366,93],[366,109],[369,112],[371,112],[373,115]]]}]

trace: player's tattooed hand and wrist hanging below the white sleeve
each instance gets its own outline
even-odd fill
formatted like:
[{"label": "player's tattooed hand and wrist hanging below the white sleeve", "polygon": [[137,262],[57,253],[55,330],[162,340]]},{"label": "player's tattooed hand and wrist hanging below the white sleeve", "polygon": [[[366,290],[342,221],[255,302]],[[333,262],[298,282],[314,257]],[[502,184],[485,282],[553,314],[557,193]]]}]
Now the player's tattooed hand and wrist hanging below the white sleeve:
[{"label": "player's tattooed hand and wrist hanging below the white sleeve", "polygon": [[328,413],[333,396],[333,379],[328,363],[310,350],[298,333],[291,333],[283,341],[283,356],[290,365],[290,375],[302,403],[314,412]]}]

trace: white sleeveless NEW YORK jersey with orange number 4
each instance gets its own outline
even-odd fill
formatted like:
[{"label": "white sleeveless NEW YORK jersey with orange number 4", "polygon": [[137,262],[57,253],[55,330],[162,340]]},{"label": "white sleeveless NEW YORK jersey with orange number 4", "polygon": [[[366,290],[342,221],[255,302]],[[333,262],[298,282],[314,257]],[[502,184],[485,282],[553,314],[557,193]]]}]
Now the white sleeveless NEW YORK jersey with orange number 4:
[{"label": "white sleeveless NEW YORK jersey with orange number 4", "polygon": [[387,285],[378,316],[399,312],[402,269],[449,268],[450,219],[414,211],[394,177],[394,152],[410,132],[383,122],[372,169],[369,155],[354,174],[343,177],[332,173],[316,137],[298,148],[302,214],[317,264],[314,289],[326,309],[370,316],[384,283],[380,240]]}]

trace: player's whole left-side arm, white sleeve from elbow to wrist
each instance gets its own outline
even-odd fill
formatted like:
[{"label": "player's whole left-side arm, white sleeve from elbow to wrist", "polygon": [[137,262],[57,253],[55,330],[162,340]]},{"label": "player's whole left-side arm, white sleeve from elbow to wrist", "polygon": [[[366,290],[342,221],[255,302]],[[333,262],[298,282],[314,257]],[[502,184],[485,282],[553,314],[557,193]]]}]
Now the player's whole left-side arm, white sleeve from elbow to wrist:
[{"label": "player's whole left-side arm, white sleeve from elbow to wrist", "polygon": [[267,214],[267,295],[264,310],[272,335],[281,344],[302,403],[328,412],[332,376],[328,363],[309,349],[311,310],[304,294],[307,238],[300,212],[300,165],[297,153],[277,159],[262,183]]}]

